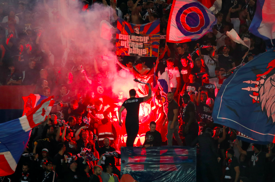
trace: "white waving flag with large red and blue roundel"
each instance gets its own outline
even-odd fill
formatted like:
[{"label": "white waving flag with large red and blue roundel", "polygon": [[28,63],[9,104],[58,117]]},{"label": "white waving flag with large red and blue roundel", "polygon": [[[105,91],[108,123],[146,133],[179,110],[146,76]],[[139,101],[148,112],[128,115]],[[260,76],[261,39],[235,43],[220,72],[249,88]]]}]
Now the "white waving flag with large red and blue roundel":
[{"label": "white waving flag with large red and blue roundel", "polygon": [[167,26],[166,41],[182,43],[197,40],[216,22],[213,13],[198,1],[174,0]]}]

